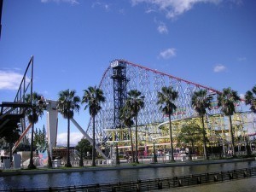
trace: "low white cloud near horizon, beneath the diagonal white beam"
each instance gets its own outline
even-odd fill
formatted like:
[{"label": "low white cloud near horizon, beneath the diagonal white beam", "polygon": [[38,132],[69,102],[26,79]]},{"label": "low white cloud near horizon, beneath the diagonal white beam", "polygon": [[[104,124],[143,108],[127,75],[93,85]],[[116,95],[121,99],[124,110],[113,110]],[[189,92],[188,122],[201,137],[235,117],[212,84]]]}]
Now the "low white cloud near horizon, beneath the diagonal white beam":
[{"label": "low white cloud near horizon, beneath the diagonal white beam", "polygon": [[[71,132],[69,141],[70,146],[76,146],[83,137],[83,134],[80,132]],[[57,146],[67,146],[67,132],[58,134]]]}]

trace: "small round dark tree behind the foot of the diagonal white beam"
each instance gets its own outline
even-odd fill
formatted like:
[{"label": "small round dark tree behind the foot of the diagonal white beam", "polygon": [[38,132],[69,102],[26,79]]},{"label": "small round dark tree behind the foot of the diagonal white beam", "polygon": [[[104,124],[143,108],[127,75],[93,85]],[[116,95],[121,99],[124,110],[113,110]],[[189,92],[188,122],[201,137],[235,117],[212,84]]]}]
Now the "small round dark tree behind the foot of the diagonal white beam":
[{"label": "small round dark tree behind the foot of the diagonal white beam", "polygon": [[84,166],[84,157],[86,157],[87,152],[90,152],[92,149],[90,142],[82,138],[75,148],[79,153],[79,166]]}]

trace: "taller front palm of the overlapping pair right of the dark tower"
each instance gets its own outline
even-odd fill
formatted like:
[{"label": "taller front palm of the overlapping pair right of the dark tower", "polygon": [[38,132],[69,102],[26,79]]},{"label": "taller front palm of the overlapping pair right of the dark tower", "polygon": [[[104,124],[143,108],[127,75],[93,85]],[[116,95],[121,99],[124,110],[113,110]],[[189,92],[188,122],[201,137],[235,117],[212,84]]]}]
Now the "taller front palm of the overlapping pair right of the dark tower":
[{"label": "taller front palm of the overlapping pair right of the dark tower", "polygon": [[[127,98],[125,101],[126,108],[129,108],[131,113],[131,117],[135,119],[135,156],[136,156],[136,163],[138,162],[138,152],[137,152],[137,115],[142,108],[144,108],[144,98],[142,93],[138,90],[130,90],[127,93]],[[133,155],[133,154],[132,154]]]}]

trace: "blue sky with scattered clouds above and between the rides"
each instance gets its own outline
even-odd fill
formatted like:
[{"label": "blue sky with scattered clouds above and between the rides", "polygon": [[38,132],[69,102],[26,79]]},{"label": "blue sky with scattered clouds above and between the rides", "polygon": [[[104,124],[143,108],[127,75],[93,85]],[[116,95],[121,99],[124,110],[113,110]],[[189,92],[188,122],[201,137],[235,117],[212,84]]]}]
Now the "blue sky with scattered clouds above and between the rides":
[{"label": "blue sky with scattered clouds above and between the rides", "polygon": [[[31,55],[34,90],[53,100],[68,88],[83,96],[119,58],[241,96],[256,84],[253,0],[4,0],[2,27],[0,102],[14,100]],[[75,119],[85,127],[83,108]]]}]

